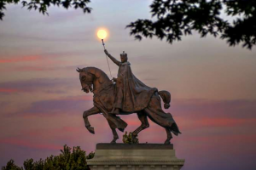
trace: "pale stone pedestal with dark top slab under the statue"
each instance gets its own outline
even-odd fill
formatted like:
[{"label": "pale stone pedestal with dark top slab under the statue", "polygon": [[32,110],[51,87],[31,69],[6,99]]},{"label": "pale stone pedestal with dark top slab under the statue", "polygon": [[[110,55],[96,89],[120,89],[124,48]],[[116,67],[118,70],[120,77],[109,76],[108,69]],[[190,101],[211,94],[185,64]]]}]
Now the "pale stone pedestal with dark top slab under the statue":
[{"label": "pale stone pedestal with dark top slab under the statue", "polygon": [[91,170],[179,170],[183,159],[177,159],[172,144],[96,144]]}]

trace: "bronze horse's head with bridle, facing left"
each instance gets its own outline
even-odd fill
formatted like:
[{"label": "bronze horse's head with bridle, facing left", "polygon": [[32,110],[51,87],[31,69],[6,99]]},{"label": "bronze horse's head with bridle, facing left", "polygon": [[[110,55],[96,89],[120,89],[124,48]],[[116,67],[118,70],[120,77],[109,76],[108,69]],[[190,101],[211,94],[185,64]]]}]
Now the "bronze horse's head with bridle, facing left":
[{"label": "bronze horse's head with bridle, facing left", "polygon": [[84,69],[77,69],[79,72],[79,80],[81,82],[82,90],[85,93],[89,93],[93,91],[92,85],[95,79],[95,76],[90,72],[84,71]]}]

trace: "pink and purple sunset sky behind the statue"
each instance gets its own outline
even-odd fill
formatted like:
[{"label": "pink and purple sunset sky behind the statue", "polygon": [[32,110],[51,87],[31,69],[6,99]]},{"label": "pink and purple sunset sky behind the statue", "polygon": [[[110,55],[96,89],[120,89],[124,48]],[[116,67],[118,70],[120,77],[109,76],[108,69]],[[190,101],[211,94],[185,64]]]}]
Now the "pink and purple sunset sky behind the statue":
[{"label": "pink and purple sunset sky behind the statue", "polygon": [[[94,151],[112,132],[102,115],[90,116],[96,134],[84,127],[92,94],[81,91],[77,67],[95,66],[109,76],[99,28],[109,31],[108,52],[125,51],[142,82],[172,94],[171,112],[182,134],[172,139],[183,170],[256,168],[256,49],[229,47],[214,37],[183,37],[172,45],[138,42],[125,26],[150,19],[151,0],[92,0],[91,14],[49,8],[49,16],[9,5],[0,21],[0,167],[11,158],[57,155],[64,144]],[[110,62],[116,77],[118,67]],[[140,122],[121,116],[128,132]],[[141,143],[164,143],[166,131],[150,122]],[[119,132],[121,142],[123,133]]]}]

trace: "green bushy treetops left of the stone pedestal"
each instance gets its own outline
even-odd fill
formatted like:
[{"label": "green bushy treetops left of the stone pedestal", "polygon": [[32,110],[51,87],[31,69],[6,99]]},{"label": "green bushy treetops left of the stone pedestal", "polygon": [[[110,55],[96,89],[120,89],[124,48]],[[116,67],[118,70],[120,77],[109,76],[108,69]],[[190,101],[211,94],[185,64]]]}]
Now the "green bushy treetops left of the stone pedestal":
[{"label": "green bushy treetops left of the stone pedestal", "polygon": [[93,152],[86,156],[85,151],[79,146],[73,147],[71,151],[70,147],[64,145],[59,156],[49,156],[39,161],[27,159],[23,167],[16,166],[15,162],[10,160],[5,167],[2,167],[2,170],[89,170],[86,159],[91,159],[93,156]]}]

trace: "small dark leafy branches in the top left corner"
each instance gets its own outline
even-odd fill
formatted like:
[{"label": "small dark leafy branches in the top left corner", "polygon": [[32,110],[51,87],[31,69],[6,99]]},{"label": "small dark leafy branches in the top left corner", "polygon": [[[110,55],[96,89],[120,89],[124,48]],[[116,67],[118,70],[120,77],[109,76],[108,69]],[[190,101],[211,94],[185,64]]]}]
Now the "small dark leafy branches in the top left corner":
[{"label": "small dark leafy branches in the top left corner", "polygon": [[91,8],[87,7],[90,0],[1,0],[0,1],[0,20],[3,20],[3,10],[6,9],[8,3],[21,3],[23,7],[31,10],[38,10],[42,14],[48,14],[49,6],[62,6],[64,8],[81,8],[84,13],[90,13]]}]

